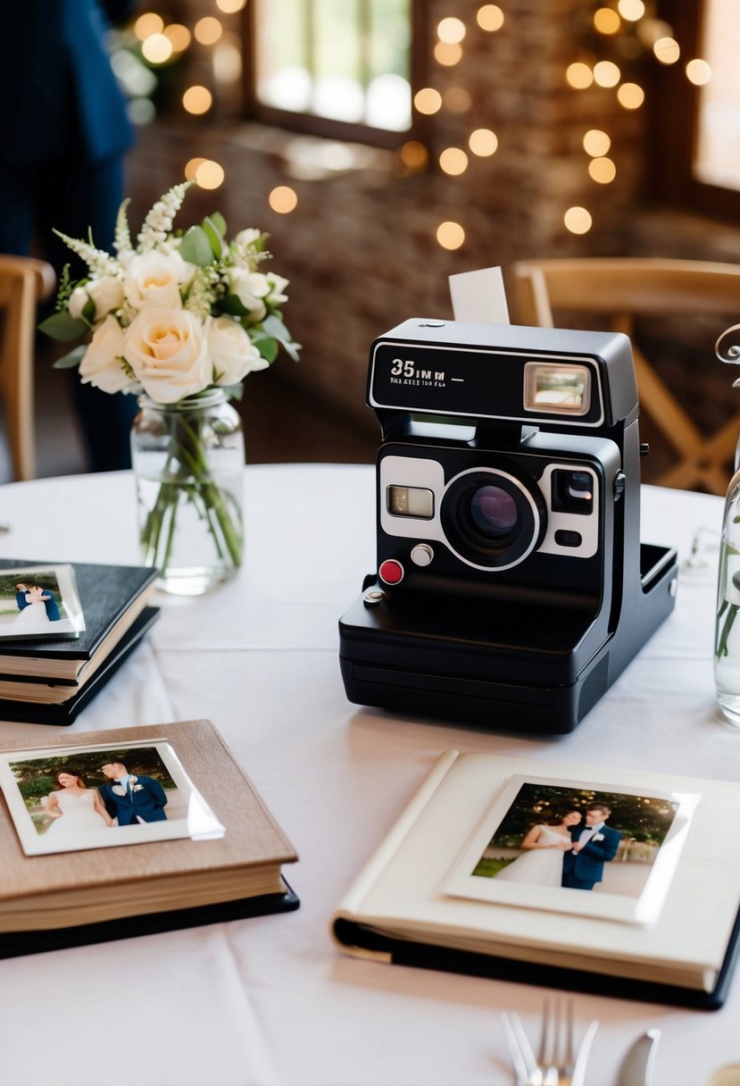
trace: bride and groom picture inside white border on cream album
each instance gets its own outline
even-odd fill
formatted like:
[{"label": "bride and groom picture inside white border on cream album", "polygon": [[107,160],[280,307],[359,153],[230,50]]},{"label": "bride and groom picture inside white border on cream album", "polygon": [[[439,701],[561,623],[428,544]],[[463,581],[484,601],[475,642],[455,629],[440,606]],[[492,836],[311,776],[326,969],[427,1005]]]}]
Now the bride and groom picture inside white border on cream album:
[{"label": "bride and groom picture inside white border on cream album", "polygon": [[661,797],[523,784],[471,874],[637,897],[675,815]]}]

